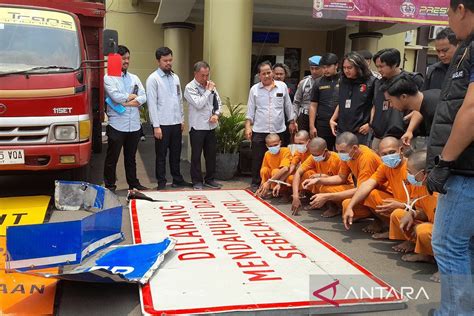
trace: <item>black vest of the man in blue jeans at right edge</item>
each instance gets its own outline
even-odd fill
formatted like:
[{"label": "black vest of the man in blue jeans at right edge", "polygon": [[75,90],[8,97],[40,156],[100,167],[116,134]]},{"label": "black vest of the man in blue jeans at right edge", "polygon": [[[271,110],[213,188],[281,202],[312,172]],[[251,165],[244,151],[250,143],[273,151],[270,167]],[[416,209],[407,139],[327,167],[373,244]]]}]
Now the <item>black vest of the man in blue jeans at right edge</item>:
[{"label": "black vest of the man in blue jeans at right edge", "polygon": [[[448,141],[454,119],[461,107],[470,83],[474,64],[474,36],[461,43],[451,60],[446,81],[441,90],[441,100],[431,126],[426,158],[428,170],[434,167],[434,158],[440,155]],[[454,174],[474,176],[474,143],[471,143],[456,160]]]}]

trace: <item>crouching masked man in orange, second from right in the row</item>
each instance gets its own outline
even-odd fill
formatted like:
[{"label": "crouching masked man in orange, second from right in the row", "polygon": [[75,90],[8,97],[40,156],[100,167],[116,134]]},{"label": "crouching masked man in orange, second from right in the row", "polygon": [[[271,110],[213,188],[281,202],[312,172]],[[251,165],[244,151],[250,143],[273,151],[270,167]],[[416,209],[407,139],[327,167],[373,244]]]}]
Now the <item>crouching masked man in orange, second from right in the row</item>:
[{"label": "crouching masked man in orange, second from right in the row", "polygon": [[[403,188],[403,181],[407,176],[406,159],[402,157],[402,146],[395,137],[385,137],[379,145],[379,155],[383,164],[369,180],[362,183],[354,197],[351,199],[344,213],[344,224],[347,229],[350,226],[350,217],[356,205],[363,204],[372,211],[376,220],[377,230],[381,233],[372,235],[375,239],[389,237],[388,227],[390,225],[390,213],[397,208],[404,208],[406,193]],[[388,185],[392,194],[386,192]]]}]

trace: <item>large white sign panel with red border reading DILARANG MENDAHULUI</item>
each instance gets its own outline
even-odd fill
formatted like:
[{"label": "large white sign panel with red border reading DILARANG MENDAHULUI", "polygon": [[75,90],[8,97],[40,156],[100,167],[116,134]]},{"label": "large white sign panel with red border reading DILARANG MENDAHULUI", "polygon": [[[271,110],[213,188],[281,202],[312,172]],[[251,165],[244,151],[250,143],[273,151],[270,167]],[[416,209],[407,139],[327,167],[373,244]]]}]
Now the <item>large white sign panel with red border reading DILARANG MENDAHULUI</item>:
[{"label": "large white sign panel with red border reading DILARANG MENDAHULUI", "polygon": [[[145,314],[404,307],[390,285],[245,190],[146,194],[173,201],[131,201],[135,243],[169,236],[176,246],[140,290]],[[357,297],[351,286],[383,295]]]}]

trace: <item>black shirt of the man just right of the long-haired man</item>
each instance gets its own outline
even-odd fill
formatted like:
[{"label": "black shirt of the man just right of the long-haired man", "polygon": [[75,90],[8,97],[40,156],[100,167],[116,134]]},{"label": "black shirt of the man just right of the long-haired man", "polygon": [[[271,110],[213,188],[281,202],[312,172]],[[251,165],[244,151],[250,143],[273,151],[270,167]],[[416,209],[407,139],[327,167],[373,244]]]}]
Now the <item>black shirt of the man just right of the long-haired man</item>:
[{"label": "black shirt of the man just right of the long-haired man", "polygon": [[[402,70],[401,74],[406,73]],[[423,77],[420,73],[410,73],[413,76],[413,80],[416,82],[418,89],[423,86]],[[396,78],[396,77],[394,77]],[[392,80],[394,78],[388,79]],[[375,95],[374,95],[374,119],[372,121],[372,129],[374,137],[384,138],[385,136],[393,136],[401,138],[405,134],[407,123],[403,120],[403,117],[408,112],[400,112],[389,106],[389,102],[385,100],[384,92],[381,87],[388,81],[387,79],[377,79],[375,82]]]}]

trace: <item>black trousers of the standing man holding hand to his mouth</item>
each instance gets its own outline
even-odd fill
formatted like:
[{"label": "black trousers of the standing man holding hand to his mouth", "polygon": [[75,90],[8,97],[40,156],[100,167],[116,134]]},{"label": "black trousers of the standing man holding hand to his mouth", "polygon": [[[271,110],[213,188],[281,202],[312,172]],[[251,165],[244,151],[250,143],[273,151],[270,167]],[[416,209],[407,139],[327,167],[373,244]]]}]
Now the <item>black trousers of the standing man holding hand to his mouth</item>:
[{"label": "black trousers of the standing man holding hand to his mouth", "polygon": [[191,141],[191,180],[193,184],[202,183],[201,154],[206,160],[205,181],[214,180],[216,172],[216,132],[215,130],[195,130],[189,132]]}]

